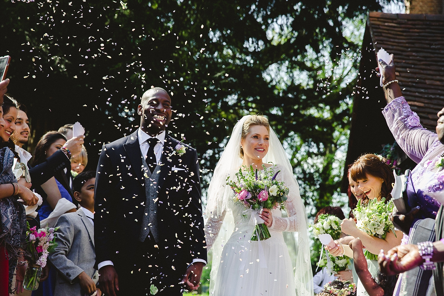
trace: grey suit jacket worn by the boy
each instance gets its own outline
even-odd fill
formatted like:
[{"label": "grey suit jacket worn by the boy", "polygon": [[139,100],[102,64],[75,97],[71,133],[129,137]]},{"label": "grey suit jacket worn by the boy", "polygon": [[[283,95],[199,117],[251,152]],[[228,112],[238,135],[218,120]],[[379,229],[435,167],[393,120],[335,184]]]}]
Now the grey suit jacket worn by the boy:
[{"label": "grey suit jacket worn by the boy", "polygon": [[82,209],[60,216],[57,220],[55,251],[48,256],[57,269],[55,296],[83,296],[78,280],[83,271],[97,284],[99,275],[94,269],[94,226]]}]

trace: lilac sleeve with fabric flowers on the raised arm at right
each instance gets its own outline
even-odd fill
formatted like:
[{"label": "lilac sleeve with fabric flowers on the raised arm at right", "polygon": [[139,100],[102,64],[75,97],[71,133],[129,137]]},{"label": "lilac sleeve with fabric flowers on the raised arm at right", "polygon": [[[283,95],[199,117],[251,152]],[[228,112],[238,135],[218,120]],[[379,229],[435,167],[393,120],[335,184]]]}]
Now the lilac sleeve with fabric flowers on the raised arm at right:
[{"label": "lilac sleeve with fabric flowers on the raised arm at right", "polygon": [[410,109],[404,97],[397,97],[387,104],[382,114],[396,142],[418,164],[436,141],[436,133],[421,126],[418,115]]}]

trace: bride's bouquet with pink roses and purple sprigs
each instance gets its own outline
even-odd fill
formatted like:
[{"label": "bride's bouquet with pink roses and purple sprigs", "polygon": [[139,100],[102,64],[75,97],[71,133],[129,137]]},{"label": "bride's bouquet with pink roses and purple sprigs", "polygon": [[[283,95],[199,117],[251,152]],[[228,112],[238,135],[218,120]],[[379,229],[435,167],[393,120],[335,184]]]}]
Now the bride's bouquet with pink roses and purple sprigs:
[{"label": "bride's bouquet with pink roses and purple sprigs", "polygon": [[259,172],[254,170],[253,166],[246,171],[242,171],[241,167],[236,173],[236,180],[230,180],[230,176],[226,180],[226,184],[234,191],[234,203],[246,208],[242,215],[246,218],[251,214],[251,219],[254,220],[251,241],[262,241],[271,237],[268,227],[258,214],[262,214],[264,208],[283,210],[289,192],[284,182],[277,181],[276,177],[280,171],[275,171],[275,166],[262,167],[263,170]]}]

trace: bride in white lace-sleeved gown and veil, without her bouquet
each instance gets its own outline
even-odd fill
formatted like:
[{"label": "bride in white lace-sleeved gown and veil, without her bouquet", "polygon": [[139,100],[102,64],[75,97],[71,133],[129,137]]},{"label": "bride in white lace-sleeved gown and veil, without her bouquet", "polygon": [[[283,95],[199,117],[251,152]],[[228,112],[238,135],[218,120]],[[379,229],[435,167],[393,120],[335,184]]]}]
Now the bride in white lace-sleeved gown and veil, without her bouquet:
[{"label": "bride in white lace-sleeved gown and veil, without her bouquet", "polygon": [[[289,194],[286,213],[263,210],[261,218],[271,238],[250,241],[251,215],[242,217],[244,208],[234,205],[226,179],[241,166],[262,170],[262,164],[281,171],[277,178]],[[313,295],[305,206],[284,148],[266,117],[247,115],[234,126],[208,188],[206,217],[206,244],[213,251],[210,295]]]}]

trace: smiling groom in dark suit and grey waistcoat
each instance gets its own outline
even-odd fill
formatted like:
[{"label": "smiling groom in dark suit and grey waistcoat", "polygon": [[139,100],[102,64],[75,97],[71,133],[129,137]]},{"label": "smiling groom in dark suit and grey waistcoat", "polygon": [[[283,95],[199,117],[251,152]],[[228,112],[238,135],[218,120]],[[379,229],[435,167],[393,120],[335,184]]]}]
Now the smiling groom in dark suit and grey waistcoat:
[{"label": "smiling groom in dark suit and grey waistcoat", "polygon": [[198,288],[207,260],[197,152],[166,134],[171,98],[162,88],[145,92],[137,113],[140,128],[104,145],[97,167],[100,289],[182,295]]}]

